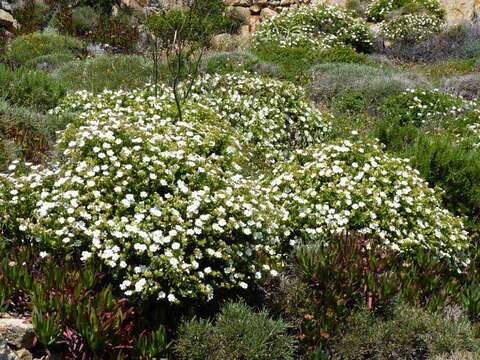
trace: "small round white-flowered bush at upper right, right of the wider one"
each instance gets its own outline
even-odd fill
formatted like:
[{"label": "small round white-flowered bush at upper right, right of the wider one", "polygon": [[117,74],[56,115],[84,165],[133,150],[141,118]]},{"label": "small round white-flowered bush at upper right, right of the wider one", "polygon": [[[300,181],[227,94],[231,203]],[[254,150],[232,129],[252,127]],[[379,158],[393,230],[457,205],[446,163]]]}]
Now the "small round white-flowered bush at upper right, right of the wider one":
[{"label": "small round white-flowered bush at upper right, right of the wider one", "polygon": [[381,35],[392,42],[421,42],[442,30],[443,19],[426,14],[407,14],[382,22]]}]

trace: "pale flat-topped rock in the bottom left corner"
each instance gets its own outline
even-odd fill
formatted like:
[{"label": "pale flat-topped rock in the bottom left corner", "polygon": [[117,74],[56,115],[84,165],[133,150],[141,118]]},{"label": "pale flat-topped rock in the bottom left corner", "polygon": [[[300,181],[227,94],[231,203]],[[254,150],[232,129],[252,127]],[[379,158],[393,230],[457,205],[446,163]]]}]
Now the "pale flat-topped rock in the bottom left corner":
[{"label": "pale flat-topped rock in the bottom left corner", "polygon": [[35,346],[33,326],[23,319],[0,319],[0,337],[17,349]]}]

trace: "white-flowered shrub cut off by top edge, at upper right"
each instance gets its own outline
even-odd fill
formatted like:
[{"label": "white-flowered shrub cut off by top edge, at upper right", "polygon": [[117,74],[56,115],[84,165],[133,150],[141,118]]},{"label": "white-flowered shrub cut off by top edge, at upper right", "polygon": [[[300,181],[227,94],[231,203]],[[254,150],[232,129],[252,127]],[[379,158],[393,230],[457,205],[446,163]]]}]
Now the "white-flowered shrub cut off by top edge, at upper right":
[{"label": "white-flowered shrub cut off by top edge, at upper right", "polygon": [[439,19],[445,18],[445,10],[437,0],[376,0],[367,9],[367,19],[372,22],[381,22],[392,11],[402,10],[403,13],[426,13]]}]

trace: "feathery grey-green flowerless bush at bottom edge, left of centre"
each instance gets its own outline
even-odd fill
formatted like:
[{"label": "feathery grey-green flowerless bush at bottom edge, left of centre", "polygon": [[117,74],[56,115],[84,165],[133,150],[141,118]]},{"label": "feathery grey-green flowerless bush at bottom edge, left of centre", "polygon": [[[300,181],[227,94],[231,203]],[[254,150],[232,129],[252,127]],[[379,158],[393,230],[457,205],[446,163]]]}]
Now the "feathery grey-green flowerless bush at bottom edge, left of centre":
[{"label": "feathery grey-green flowerless bush at bottom edge, left of centre", "polygon": [[266,311],[254,313],[243,303],[228,303],[215,324],[192,320],[180,327],[175,350],[180,360],[293,359],[288,324]]}]

